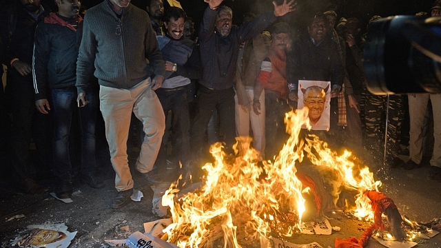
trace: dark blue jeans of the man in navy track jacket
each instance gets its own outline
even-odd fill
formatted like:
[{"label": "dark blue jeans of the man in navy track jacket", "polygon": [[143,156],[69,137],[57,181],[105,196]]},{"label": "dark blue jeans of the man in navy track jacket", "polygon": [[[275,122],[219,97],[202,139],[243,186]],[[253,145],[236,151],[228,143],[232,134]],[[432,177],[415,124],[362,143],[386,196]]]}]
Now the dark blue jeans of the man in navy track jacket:
[{"label": "dark blue jeans of the man in navy track jacket", "polygon": [[76,87],[52,89],[52,110],[54,112],[54,136],[52,147],[54,153],[54,176],[62,180],[72,179],[72,165],[69,156],[69,136],[72,125],[72,114],[79,112],[81,128],[81,173],[93,174],[95,161],[95,124],[98,102],[93,87],[86,89],[89,101],[85,107],[76,103]]}]

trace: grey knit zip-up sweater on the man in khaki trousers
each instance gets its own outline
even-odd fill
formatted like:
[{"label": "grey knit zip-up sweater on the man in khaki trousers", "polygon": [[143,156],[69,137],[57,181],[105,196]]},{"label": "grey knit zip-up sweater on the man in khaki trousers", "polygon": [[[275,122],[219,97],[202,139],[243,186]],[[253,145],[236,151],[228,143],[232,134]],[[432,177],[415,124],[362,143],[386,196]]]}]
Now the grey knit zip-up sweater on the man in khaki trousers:
[{"label": "grey knit zip-up sweater on the man in khaki trousers", "polygon": [[130,3],[118,17],[107,0],[86,12],[76,62],[78,93],[87,87],[92,73],[100,85],[119,89],[133,87],[152,74],[165,74],[147,12]]}]

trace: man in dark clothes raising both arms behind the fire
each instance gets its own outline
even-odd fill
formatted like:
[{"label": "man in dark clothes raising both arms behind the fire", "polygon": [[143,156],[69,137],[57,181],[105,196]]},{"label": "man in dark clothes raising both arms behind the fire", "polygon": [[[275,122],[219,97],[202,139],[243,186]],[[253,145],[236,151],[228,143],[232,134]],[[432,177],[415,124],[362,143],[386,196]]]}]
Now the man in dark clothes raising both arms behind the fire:
[{"label": "man in dark clothes raising both arms behind the fire", "polygon": [[236,128],[234,121],[234,77],[240,44],[260,34],[271,23],[296,10],[294,0],[274,4],[274,11],[244,23],[232,25],[233,12],[227,6],[220,6],[223,0],[204,0],[205,9],[199,42],[203,74],[199,80],[196,96],[196,116],[192,126],[193,159],[201,158],[203,138],[214,109],[217,110],[220,130],[227,152],[232,152]]}]

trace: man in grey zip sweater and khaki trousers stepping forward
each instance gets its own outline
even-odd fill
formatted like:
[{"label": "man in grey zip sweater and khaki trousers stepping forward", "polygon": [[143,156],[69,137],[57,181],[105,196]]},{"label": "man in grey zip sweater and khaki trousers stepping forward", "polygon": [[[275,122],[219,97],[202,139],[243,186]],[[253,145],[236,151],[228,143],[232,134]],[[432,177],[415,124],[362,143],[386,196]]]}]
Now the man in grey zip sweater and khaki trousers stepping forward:
[{"label": "man in grey zip sweater and khaki trousers stepping forward", "polygon": [[76,63],[77,102],[79,107],[88,103],[84,89],[94,74],[99,80],[100,110],[116,172],[118,194],[113,208],[129,203],[133,192],[126,145],[132,112],[142,121],[145,133],[136,170],[149,183],[161,182],[152,168],[161,146],[165,116],[154,90],[161,87],[164,73],[162,54],[145,11],[130,0],[104,0],[86,12]]}]

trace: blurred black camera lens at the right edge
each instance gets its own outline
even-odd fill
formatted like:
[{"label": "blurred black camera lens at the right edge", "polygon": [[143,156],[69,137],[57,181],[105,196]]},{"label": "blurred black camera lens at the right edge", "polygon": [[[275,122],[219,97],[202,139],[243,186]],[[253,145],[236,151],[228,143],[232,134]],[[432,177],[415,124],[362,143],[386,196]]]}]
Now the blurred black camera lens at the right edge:
[{"label": "blurred black camera lens at the right edge", "polygon": [[370,24],[364,68],[371,93],[441,93],[440,62],[440,17],[395,16]]}]

